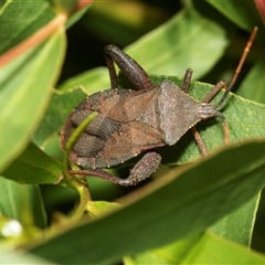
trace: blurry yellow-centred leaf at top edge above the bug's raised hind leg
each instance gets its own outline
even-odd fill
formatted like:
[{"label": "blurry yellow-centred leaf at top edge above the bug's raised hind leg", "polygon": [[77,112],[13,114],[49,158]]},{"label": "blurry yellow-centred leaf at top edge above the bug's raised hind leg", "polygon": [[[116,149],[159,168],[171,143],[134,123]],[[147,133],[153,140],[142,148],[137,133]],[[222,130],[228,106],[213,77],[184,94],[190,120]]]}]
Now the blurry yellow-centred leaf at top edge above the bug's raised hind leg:
[{"label": "blurry yellow-centred leaf at top edge above the bug's raised hind leg", "polygon": [[[112,12],[106,8],[110,6]],[[82,25],[100,39],[115,40],[124,46],[161,24],[169,15],[159,6],[145,1],[94,1]]]}]

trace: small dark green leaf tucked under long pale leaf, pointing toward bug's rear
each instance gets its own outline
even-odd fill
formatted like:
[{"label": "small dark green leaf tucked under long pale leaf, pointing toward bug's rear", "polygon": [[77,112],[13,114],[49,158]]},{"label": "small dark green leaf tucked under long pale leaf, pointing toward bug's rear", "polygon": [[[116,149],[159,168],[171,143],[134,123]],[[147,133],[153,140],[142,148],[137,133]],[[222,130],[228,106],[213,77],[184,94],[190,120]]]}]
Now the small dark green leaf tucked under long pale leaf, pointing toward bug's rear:
[{"label": "small dark green leaf tucked under long pale leaf, pointing toward bug's rear", "polygon": [[62,173],[62,163],[30,144],[2,172],[2,176],[20,183],[55,183]]}]

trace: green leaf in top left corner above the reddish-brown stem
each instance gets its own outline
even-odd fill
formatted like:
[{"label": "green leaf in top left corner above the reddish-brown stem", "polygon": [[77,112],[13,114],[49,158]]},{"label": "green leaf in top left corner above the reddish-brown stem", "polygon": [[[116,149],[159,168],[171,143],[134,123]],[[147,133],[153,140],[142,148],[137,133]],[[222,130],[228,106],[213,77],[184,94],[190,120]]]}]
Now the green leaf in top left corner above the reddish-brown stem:
[{"label": "green leaf in top left corner above the reddish-brown stem", "polygon": [[[22,12],[23,10],[23,12]],[[46,1],[7,1],[0,12],[0,53],[15,46],[54,18]]]}]

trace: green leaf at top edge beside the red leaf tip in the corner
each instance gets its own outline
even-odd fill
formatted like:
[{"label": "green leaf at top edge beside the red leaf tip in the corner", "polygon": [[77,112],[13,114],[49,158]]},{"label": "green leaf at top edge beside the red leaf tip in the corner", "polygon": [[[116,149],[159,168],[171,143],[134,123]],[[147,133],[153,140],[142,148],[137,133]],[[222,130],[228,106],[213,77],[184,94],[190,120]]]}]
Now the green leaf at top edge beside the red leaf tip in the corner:
[{"label": "green leaf at top edge beside the red leaf tip in the corner", "polygon": [[251,31],[255,25],[262,25],[253,1],[242,1],[240,4],[236,0],[206,0],[206,2],[212,4],[241,29]]}]

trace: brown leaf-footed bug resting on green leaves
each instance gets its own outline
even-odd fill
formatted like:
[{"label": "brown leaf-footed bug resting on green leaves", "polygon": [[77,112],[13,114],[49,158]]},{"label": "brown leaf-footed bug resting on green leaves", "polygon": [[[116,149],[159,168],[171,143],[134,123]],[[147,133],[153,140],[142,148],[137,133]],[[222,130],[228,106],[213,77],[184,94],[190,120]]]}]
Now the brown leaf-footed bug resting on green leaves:
[{"label": "brown leaf-footed bug resting on green leaves", "polygon": [[[189,129],[202,153],[206,153],[200,135],[194,126],[202,119],[219,117],[223,121],[224,138],[229,141],[229,126],[225,117],[218,109],[224,103],[233,87],[250,47],[255,39],[257,28],[244,49],[239,66],[226,86],[222,81],[200,103],[188,95],[192,71],[187,70],[181,87],[169,80],[153,85],[144,68],[129,55],[115,45],[105,47],[106,64],[110,77],[110,89],[93,94],[85,98],[68,116],[60,136],[62,149],[74,129],[93,112],[98,116],[85,128],[70,153],[70,160],[81,170],[72,174],[92,176],[120,186],[132,186],[155,172],[161,156],[155,148],[174,145]],[[117,88],[118,76],[115,63],[136,91]],[[226,88],[218,104],[211,99]],[[130,170],[127,179],[117,178],[104,168],[110,168],[127,161],[140,152],[147,151]]]}]

